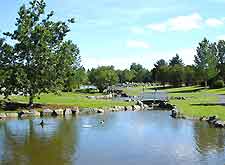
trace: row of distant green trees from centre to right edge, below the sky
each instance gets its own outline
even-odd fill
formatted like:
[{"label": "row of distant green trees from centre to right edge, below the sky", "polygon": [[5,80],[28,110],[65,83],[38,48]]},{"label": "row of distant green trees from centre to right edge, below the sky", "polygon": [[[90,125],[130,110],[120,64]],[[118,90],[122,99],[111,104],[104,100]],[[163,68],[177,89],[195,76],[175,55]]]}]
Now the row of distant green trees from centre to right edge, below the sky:
[{"label": "row of distant green trees from centre to right edge, below the sky", "polygon": [[196,48],[194,64],[185,65],[184,62],[176,54],[168,61],[158,60],[152,70],[136,63],[132,63],[130,68],[125,70],[115,70],[113,66],[101,66],[87,71],[83,68],[76,75],[76,80],[80,81],[77,81],[77,84],[96,85],[100,91],[110,85],[125,82],[154,82],[176,87],[202,85],[219,88],[224,86],[225,41],[210,43],[204,38]]}]

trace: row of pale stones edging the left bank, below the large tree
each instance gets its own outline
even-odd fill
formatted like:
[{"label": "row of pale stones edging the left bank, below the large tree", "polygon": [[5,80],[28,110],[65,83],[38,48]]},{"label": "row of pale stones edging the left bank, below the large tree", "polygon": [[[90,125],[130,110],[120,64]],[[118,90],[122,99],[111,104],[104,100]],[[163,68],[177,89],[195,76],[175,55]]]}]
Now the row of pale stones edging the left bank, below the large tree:
[{"label": "row of pale stones edging the left bank, below the large tree", "polygon": [[93,113],[104,113],[104,112],[120,112],[120,111],[143,111],[148,106],[142,102],[137,102],[136,105],[132,106],[114,106],[111,108],[65,108],[65,109],[43,109],[41,111],[36,110],[22,110],[19,112],[1,112],[0,119],[9,118],[26,118],[26,117],[56,117],[56,116],[75,116],[79,114],[93,114]]}]

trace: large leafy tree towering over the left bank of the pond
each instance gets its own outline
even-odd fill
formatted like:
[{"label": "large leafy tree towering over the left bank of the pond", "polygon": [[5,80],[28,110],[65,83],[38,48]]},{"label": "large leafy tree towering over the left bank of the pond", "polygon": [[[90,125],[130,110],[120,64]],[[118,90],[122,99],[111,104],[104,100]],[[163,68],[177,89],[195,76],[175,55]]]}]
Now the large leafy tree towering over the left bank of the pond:
[{"label": "large leafy tree towering over the left bank of the pond", "polygon": [[0,44],[0,68],[5,71],[1,93],[29,96],[29,104],[41,93],[62,89],[66,76],[79,63],[77,45],[65,40],[74,19],[53,21],[54,12],[45,16],[45,7],[44,0],[23,5],[16,30],[3,33],[15,44],[2,39]]}]

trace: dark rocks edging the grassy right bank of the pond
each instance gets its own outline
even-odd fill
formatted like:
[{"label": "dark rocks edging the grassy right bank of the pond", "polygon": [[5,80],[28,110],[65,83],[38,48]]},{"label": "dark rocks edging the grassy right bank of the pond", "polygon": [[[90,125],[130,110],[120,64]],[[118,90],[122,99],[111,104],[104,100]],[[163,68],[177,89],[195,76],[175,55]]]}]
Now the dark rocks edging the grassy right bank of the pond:
[{"label": "dark rocks edging the grassy right bank of the pond", "polygon": [[225,128],[225,121],[220,120],[218,116],[209,116],[209,117],[202,116],[200,118],[185,117],[181,112],[179,112],[176,106],[174,106],[174,108],[171,110],[170,116],[175,119],[191,119],[191,120],[206,121],[215,128]]}]

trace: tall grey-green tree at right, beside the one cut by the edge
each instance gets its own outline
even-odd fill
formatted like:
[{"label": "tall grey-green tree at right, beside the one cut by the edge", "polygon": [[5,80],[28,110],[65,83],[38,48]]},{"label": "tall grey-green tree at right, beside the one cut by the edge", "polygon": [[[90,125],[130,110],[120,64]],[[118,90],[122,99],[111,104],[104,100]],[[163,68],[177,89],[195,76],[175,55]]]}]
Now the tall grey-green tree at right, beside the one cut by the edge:
[{"label": "tall grey-green tree at right, beside the one cut by the edge", "polygon": [[197,54],[195,55],[195,66],[197,72],[201,73],[201,79],[207,86],[207,81],[218,74],[217,71],[217,51],[216,44],[209,43],[204,38],[197,47]]}]

